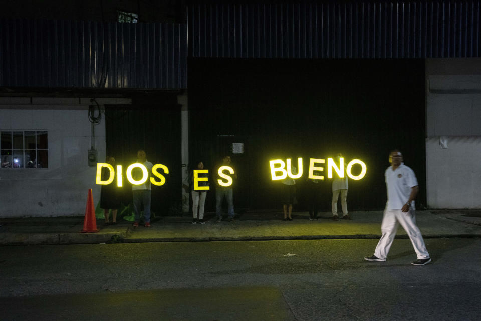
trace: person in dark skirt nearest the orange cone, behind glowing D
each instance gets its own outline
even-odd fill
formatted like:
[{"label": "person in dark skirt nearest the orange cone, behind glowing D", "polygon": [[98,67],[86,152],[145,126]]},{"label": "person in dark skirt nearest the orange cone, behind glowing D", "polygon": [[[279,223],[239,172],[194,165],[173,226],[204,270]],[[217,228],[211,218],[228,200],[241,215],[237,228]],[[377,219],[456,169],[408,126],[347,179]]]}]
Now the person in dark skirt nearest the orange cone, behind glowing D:
[{"label": "person in dark skirt nearest the orange cone, behind glowing D", "polygon": [[[105,161],[115,168],[115,158],[107,156]],[[102,168],[102,180],[106,181],[109,178],[109,171],[107,168]],[[110,210],[112,210],[112,225],[117,224],[117,210],[120,207],[120,198],[118,196],[118,189],[115,186],[115,180],[108,184],[102,185],[100,188],[100,208],[104,209],[105,223],[104,225],[110,225],[109,216]]]}]

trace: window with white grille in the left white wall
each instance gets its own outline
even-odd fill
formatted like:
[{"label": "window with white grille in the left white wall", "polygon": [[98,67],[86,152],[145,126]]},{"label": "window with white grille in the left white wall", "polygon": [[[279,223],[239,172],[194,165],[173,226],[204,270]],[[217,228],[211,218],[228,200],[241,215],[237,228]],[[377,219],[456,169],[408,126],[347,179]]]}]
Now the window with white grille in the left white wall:
[{"label": "window with white grille in the left white wall", "polygon": [[2,168],[48,168],[48,134],[38,131],[0,131]]}]

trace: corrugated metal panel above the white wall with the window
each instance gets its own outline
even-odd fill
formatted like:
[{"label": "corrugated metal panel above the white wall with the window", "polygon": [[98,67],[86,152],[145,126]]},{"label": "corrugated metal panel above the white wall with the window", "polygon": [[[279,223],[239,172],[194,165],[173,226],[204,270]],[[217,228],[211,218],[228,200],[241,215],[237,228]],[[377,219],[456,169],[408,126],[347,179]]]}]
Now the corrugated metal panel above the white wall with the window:
[{"label": "corrugated metal panel above the white wall with the window", "polygon": [[187,87],[183,24],[0,19],[0,86]]}]

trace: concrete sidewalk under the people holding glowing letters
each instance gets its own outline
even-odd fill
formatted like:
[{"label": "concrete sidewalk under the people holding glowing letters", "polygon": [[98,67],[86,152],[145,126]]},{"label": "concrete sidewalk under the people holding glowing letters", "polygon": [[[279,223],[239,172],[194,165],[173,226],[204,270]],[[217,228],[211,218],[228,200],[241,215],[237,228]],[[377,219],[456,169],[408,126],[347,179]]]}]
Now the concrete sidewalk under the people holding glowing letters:
[{"label": "concrete sidewalk under the people holding glowing letters", "polygon": [[[468,210],[417,211],[416,220],[425,238],[481,237],[481,213]],[[310,221],[307,212],[293,213],[293,221],[283,221],[280,212],[247,212],[235,222],[215,223],[207,213],[206,224],[192,224],[190,214],[152,220],[152,227],[133,227],[119,220],[103,225],[97,220],[97,233],[80,233],[83,217],[0,218],[0,245],[89,244],[175,241],[284,240],[379,238],[382,211],[351,212],[350,221],[333,221],[321,213]],[[398,238],[407,238],[399,227]]]}]

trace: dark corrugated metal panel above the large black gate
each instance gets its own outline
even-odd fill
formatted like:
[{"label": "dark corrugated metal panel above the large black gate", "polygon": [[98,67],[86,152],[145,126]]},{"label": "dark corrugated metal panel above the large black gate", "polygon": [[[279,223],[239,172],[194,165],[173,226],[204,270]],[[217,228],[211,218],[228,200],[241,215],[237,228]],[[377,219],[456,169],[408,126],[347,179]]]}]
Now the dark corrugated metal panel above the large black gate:
[{"label": "dark corrugated metal panel above the large black gate", "polygon": [[193,5],[189,55],[228,58],[480,57],[480,1]]}]

